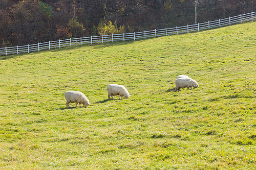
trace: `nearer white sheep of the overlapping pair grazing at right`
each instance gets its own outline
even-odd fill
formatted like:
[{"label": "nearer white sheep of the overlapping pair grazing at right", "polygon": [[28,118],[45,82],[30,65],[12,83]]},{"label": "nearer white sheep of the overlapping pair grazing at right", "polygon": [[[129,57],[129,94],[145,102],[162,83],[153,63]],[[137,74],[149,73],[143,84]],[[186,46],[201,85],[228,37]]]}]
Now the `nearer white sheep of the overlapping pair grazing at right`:
[{"label": "nearer white sheep of the overlapping pair grazing at right", "polygon": [[180,90],[181,88],[187,88],[187,90],[189,89],[189,87],[192,89],[192,87],[197,88],[198,87],[198,83],[191,79],[191,78],[180,78],[180,79],[176,79],[175,80],[175,91],[176,90]]}]

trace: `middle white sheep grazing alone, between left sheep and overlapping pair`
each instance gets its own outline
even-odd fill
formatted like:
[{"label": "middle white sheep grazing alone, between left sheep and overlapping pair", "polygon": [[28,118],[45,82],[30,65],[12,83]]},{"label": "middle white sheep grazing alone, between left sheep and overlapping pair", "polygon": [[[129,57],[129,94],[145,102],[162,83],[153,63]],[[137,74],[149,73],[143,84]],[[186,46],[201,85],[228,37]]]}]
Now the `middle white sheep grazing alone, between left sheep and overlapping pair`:
[{"label": "middle white sheep grazing alone, between left sheep and overlapping pair", "polygon": [[106,90],[108,90],[109,99],[110,99],[110,96],[112,97],[112,99],[114,99],[114,95],[120,95],[119,100],[120,100],[120,98],[122,99],[123,97],[125,99],[129,99],[129,97],[130,97],[129,92],[122,85],[110,84],[110,85],[108,85],[108,87],[106,87]]}]

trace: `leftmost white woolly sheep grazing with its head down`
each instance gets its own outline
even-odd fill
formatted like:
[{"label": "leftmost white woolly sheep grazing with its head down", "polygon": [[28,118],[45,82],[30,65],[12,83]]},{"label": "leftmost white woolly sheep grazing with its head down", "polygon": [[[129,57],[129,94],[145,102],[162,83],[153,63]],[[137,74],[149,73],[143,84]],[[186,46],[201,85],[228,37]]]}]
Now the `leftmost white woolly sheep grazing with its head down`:
[{"label": "leftmost white woolly sheep grazing with its head down", "polygon": [[86,95],[84,95],[80,91],[67,91],[64,94],[64,96],[65,96],[65,99],[67,100],[67,108],[69,107],[69,103],[76,103],[76,105],[79,103],[80,108],[81,108],[81,104],[83,104],[84,107],[87,107],[88,105],[90,105],[90,102],[87,99]]}]

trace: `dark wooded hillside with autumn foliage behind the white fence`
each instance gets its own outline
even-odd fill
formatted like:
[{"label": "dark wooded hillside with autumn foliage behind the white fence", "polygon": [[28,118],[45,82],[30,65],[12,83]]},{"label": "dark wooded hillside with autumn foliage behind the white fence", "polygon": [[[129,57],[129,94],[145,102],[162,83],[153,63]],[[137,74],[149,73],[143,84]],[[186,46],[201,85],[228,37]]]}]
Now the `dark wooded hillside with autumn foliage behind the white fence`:
[{"label": "dark wooded hillside with autumn foliage behind the white fence", "polygon": [[[0,47],[194,24],[196,0],[3,0]],[[255,11],[256,0],[197,0],[197,22]]]}]

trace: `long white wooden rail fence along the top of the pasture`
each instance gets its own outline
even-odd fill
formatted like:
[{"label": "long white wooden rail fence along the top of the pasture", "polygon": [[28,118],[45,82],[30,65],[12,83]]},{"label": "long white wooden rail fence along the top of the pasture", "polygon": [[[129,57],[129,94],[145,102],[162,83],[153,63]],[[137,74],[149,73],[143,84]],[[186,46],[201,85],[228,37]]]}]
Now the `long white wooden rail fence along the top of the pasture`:
[{"label": "long white wooden rail fence along the top of the pasture", "polygon": [[92,43],[103,43],[103,42],[114,42],[114,41],[127,41],[127,40],[137,40],[145,39],[150,37],[159,37],[175,34],[183,34],[194,31],[209,30],[212,28],[218,28],[221,26],[228,26],[233,23],[242,23],[245,21],[253,21],[256,19],[256,12],[251,12],[247,14],[240,14],[238,16],[233,16],[225,19],[219,19],[215,21],[208,21],[204,23],[198,23],[195,25],[187,25],[183,27],[175,28],[165,28],[160,30],[151,30],[143,32],[134,33],[123,33],[123,34],[112,34],[112,35],[100,35],[91,37],[80,37],[80,38],[70,38],[65,40],[49,41],[32,45],[23,46],[13,46],[13,47],[3,47],[0,48],[0,55],[7,54],[20,54],[20,53],[31,53],[41,50],[51,50],[52,48],[60,48],[63,46],[73,46],[82,44],[92,44]]}]

